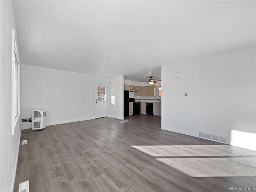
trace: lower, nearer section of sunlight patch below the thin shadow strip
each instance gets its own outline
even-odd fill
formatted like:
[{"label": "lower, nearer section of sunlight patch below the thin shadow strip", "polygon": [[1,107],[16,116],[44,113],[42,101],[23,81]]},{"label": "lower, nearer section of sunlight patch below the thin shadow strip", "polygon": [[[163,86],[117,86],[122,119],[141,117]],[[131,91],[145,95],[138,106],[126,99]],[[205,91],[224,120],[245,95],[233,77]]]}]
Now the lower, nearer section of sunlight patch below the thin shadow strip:
[{"label": "lower, nearer section of sunlight patch below the thin shadow strip", "polygon": [[191,177],[256,176],[255,157],[246,158],[156,158]]}]

